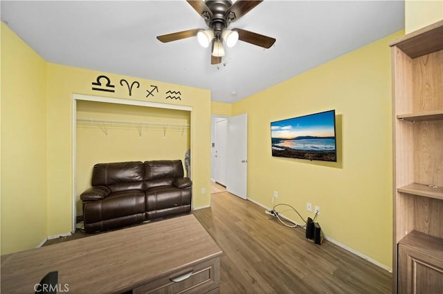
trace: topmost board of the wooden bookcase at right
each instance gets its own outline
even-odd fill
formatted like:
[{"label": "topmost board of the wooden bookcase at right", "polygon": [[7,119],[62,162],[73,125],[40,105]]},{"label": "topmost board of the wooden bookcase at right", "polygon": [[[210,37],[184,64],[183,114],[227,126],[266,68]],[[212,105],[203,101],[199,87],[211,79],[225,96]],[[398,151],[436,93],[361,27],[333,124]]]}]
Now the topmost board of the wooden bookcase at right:
[{"label": "topmost board of the wooden bookcase at right", "polygon": [[410,58],[443,50],[443,21],[437,21],[437,23],[433,23],[431,26],[411,32],[389,43],[389,45],[397,46]]}]

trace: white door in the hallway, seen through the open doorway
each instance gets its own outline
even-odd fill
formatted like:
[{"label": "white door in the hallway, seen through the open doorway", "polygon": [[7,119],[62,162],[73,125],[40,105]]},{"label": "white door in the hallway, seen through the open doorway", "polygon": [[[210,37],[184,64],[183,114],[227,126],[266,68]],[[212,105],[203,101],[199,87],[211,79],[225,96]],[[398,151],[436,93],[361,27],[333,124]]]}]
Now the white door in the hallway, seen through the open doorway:
[{"label": "white door in the hallway, seen through the open doorway", "polygon": [[226,147],[228,140],[228,119],[215,121],[215,155],[214,155],[214,179],[215,182],[226,186]]}]

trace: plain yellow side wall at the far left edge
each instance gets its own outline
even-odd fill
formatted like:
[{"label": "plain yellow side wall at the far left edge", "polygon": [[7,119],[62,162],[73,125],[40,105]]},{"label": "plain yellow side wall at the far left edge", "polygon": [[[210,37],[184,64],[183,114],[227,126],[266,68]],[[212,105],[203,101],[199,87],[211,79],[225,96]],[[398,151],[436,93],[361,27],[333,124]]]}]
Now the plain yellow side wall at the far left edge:
[{"label": "plain yellow side wall at the far left edge", "polygon": [[47,236],[46,62],[1,23],[1,254]]}]

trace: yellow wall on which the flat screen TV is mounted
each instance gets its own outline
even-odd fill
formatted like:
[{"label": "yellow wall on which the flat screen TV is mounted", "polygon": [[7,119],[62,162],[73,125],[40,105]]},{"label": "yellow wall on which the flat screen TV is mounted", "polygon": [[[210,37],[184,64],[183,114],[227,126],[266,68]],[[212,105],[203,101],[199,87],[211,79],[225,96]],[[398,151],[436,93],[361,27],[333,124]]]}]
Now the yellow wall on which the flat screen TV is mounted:
[{"label": "yellow wall on which the flat screen TV is mounted", "polygon": [[[391,70],[398,32],[233,104],[248,113],[248,197],[290,204],[327,235],[387,267],[392,256]],[[279,99],[275,99],[279,97]],[[272,99],[270,99],[272,98]],[[271,156],[270,122],[336,110],[338,162]],[[314,208],[314,207],[313,207]],[[302,222],[296,213],[284,215]]]}]

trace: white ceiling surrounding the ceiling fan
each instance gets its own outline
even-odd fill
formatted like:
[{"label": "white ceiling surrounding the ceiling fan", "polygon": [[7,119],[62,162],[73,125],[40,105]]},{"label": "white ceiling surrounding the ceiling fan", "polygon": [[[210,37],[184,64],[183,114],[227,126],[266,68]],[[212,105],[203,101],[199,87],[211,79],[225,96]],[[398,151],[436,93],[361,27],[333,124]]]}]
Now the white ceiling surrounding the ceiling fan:
[{"label": "white ceiling surrounding the ceiling fan", "polygon": [[239,41],[219,66],[197,38],[156,39],[206,28],[184,0],[2,0],[1,20],[46,61],[209,89],[213,101],[231,103],[403,29],[404,1],[265,0],[229,28],[275,44]]}]

